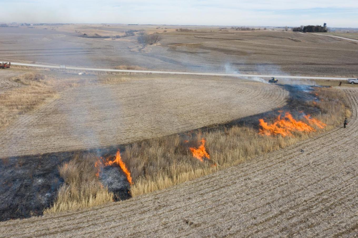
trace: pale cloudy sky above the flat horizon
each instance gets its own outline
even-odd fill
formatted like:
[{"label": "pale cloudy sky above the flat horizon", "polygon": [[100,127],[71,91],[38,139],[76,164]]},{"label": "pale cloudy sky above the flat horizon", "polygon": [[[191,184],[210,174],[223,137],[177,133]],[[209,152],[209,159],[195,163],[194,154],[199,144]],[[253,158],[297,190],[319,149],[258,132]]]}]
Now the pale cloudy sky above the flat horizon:
[{"label": "pale cloudy sky above the flat horizon", "polygon": [[358,0],[0,0],[0,22],[358,28]]}]

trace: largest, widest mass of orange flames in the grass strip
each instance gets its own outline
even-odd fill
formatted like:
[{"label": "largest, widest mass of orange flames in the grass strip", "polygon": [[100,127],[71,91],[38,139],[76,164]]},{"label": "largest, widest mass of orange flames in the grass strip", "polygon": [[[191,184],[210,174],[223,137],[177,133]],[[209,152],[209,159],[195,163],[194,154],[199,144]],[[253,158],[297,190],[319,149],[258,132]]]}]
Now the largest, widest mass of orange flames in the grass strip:
[{"label": "largest, widest mass of orange flames in the grass strip", "polygon": [[292,132],[314,132],[315,129],[308,124],[296,121],[289,112],[285,113],[283,119],[281,115],[277,117],[276,122],[268,124],[263,119],[259,119],[260,129],[259,134],[261,135],[282,135],[286,137],[287,135],[292,135]]}]

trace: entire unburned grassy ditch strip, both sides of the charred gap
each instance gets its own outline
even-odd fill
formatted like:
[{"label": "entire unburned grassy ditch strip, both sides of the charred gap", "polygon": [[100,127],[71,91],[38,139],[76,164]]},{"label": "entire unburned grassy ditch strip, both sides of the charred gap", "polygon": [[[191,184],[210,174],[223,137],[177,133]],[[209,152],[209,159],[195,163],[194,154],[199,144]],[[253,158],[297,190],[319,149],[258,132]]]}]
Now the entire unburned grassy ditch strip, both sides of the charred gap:
[{"label": "entire unburned grassy ditch strip, both sides of the charred gap", "polygon": [[[165,189],[240,164],[257,155],[285,148],[331,130],[342,124],[344,117],[350,116],[349,105],[342,91],[319,88],[308,94],[314,94],[311,97],[314,100],[289,99],[290,110],[295,110],[296,115],[303,113],[302,108],[305,109],[305,113],[315,112],[314,118],[326,124],[323,129],[312,125],[315,132],[293,132],[291,136],[286,137],[265,136],[258,133],[257,127],[237,124],[169,135],[127,145],[121,151],[121,159],[129,169],[134,182],[130,187],[131,196]],[[275,120],[276,116],[266,119],[270,122]],[[297,120],[308,123],[305,118]],[[252,120],[252,123],[258,124],[256,122],[257,119]],[[199,148],[202,138],[206,140],[205,149],[210,158],[200,161],[193,157],[190,148]],[[62,165],[60,173],[65,183],[59,190],[53,207],[47,209],[45,213],[91,207],[114,199],[113,193],[100,185],[98,177],[93,176],[96,171],[93,163],[98,160],[98,156],[86,154],[82,155],[82,159],[79,158],[73,158],[70,162],[71,167],[86,169],[73,172],[77,176],[76,179],[68,179],[66,173],[62,171],[67,170],[70,163]],[[88,174],[91,174],[91,179],[88,179]],[[74,192],[69,192],[72,188]]]}]

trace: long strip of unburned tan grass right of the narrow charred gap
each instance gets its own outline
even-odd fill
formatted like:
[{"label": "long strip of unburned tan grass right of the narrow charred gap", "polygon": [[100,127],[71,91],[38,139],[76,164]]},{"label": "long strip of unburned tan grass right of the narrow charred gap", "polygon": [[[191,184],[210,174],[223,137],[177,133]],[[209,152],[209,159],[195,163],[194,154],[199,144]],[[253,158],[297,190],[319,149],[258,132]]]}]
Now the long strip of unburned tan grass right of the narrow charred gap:
[{"label": "long strip of unburned tan grass right of the narrow charred gap", "polygon": [[204,132],[190,138],[189,141],[194,143],[198,143],[201,138],[207,140],[206,147],[211,160],[217,164],[214,167],[210,163],[202,163],[193,158],[188,150],[192,144],[183,145],[183,138],[179,136],[152,139],[126,148],[123,160],[129,165],[134,176],[132,196],[168,188],[237,165],[257,155],[285,148],[331,130],[342,124],[345,117],[350,116],[351,111],[342,91],[325,88],[314,93],[318,94],[317,101],[306,104],[317,107],[320,113],[314,117],[327,124],[324,129],[313,126],[316,130],[314,133],[296,132],[293,137],[267,137],[259,135],[253,128],[234,126],[225,130]]}]

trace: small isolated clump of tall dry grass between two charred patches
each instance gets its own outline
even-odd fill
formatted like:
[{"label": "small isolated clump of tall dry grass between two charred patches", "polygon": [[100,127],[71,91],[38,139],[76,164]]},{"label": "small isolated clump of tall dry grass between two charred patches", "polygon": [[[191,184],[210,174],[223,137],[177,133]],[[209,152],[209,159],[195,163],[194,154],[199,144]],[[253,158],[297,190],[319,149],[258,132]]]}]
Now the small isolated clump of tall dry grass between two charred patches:
[{"label": "small isolated clump of tall dry grass between two charred patches", "polygon": [[113,201],[113,193],[99,182],[93,154],[75,155],[59,168],[64,184],[58,191],[52,207],[44,214],[94,207]]}]

